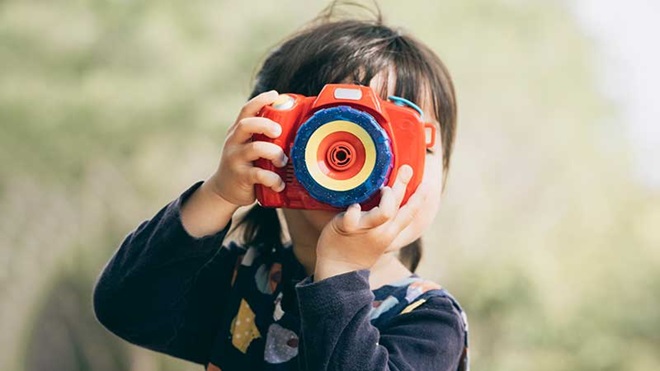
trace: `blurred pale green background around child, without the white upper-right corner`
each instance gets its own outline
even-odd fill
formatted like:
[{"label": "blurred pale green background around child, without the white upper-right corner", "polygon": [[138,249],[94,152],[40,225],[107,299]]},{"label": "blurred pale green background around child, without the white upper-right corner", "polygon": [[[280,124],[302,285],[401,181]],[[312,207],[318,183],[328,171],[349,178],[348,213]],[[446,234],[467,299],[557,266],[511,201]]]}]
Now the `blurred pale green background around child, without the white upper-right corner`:
[{"label": "blurred pale green background around child, without the white upper-right corner", "polygon": [[[459,133],[421,273],[474,370],[660,369],[660,189],[562,2],[381,1]],[[125,234],[214,170],[258,62],[325,1],[0,1],[0,370],[198,370],[96,323]]]}]

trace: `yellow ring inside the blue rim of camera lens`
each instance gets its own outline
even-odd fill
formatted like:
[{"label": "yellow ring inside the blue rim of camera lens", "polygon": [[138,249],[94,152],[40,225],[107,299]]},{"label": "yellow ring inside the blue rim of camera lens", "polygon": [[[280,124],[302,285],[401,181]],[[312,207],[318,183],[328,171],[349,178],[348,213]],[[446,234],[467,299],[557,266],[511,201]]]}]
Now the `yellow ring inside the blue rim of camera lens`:
[{"label": "yellow ring inside the blue rim of camera lens", "polygon": [[[332,133],[342,131],[356,136],[362,142],[365,151],[365,161],[362,169],[354,177],[345,180],[327,176],[319,166],[317,158],[317,149],[321,145],[321,141]],[[305,164],[312,179],[320,186],[332,191],[348,191],[364,183],[371,175],[376,165],[376,145],[369,133],[361,126],[345,120],[330,121],[316,129],[307,141]]]}]

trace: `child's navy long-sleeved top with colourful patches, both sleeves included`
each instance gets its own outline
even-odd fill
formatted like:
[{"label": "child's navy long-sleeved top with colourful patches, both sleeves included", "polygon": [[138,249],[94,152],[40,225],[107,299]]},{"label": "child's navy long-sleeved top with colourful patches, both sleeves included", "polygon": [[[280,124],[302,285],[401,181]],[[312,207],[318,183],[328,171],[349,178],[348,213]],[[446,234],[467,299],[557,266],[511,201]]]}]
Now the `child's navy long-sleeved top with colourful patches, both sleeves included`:
[{"label": "child's navy long-sleeved top with colourful patches, both sleeves included", "polygon": [[458,303],[416,275],[374,291],[369,271],[313,282],[290,247],[261,256],[228,231],[195,239],[182,202],[126,237],[94,291],[125,340],[208,370],[467,370]]}]

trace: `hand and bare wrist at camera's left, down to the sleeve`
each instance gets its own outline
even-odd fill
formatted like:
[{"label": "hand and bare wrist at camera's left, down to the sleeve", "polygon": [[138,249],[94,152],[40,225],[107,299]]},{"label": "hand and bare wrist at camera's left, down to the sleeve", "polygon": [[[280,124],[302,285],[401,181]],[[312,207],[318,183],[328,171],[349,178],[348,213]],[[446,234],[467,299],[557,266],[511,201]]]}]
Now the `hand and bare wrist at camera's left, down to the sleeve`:
[{"label": "hand and bare wrist at camera's left, down to the sleeve", "polygon": [[279,175],[252,163],[259,158],[268,159],[277,167],[287,163],[279,146],[252,141],[253,134],[277,138],[282,133],[278,123],[256,117],[262,107],[273,103],[277,97],[276,91],[269,91],[252,98],[229,128],[218,169],[181,207],[181,222],[191,236],[209,236],[225,228],[239,206],[255,201],[255,184],[276,192],[284,190],[284,181]]}]

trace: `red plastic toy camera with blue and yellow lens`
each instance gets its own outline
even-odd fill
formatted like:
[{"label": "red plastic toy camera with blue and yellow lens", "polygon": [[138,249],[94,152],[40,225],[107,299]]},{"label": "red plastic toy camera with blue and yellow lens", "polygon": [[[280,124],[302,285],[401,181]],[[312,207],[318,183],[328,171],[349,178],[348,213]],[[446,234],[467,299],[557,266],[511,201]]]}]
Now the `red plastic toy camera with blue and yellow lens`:
[{"label": "red plastic toy camera with blue and yellow lens", "polygon": [[282,126],[272,142],[289,157],[283,168],[259,159],[255,165],[279,174],[286,187],[275,192],[256,185],[265,207],[341,210],[359,203],[369,210],[380,188],[393,185],[408,164],[413,177],[403,203],[422,180],[426,149],[435,142],[435,125],[426,123],[414,103],[390,96],[382,100],[370,87],[326,85],[317,97],[282,94],[259,114]]}]

